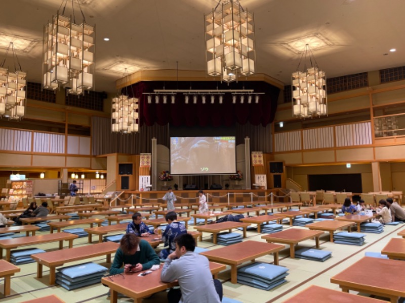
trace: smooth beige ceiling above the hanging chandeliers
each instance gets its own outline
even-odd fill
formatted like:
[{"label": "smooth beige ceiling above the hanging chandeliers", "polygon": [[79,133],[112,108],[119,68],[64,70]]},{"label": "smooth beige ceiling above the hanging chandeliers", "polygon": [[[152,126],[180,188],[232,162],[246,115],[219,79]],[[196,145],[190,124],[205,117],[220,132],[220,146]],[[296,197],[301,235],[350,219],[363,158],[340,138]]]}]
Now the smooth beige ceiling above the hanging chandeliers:
[{"label": "smooth beige ceiling above the hanging chandeliers", "polygon": [[[123,72],[106,67],[117,62],[141,69],[205,70],[204,14],[214,0],[79,0],[89,24],[96,25],[97,91],[115,92]],[[72,13],[67,0],[65,15]],[[76,23],[81,23],[74,0]],[[240,0],[255,14],[257,72],[290,83],[300,55],[283,42],[311,34],[332,46],[313,54],[327,76],[405,65],[404,0]],[[0,37],[29,37],[35,45],[18,52],[28,80],[41,82],[43,27],[62,0],[3,0]],[[104,37],[110,41],[103,40]],[[396,48],[390,53],[390,48]],[[388,54],[384,56],[383,54]],[[0,59],[5,49],[0,48]],[[12,65],[9,56],[6,61]]]}]

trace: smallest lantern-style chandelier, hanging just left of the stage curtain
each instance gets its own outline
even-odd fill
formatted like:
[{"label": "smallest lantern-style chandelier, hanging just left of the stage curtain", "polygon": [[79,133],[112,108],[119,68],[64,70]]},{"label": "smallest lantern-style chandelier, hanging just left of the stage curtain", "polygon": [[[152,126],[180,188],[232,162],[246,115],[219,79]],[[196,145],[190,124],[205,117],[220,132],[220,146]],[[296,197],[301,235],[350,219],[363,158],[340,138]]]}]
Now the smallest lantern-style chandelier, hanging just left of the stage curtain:
[{"label": "smallest lantern-style chandelier, hanging just left of the stage curtain", "polygon": [[[126,78],[125,69],[124,78]],[[112,98],[111,105],[111,131],[120,133],[133,133],[139,130],[138,98],[135,98],[131,86],[131,96],[128,86],[121,90],[120,94]]]}]

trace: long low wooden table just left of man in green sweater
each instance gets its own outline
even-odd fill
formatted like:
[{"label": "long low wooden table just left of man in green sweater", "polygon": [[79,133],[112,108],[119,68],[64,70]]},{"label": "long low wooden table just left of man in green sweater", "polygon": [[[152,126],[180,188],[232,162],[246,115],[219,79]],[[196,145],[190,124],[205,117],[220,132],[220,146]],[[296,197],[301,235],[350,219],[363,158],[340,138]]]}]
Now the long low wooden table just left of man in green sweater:
[{"label": "long low wooden table just left of man in green sweater", "polygon": [[104,255],[106,255],[106,262],[111,263],[111,254],[113,254],[118,247],[118,243],[103,242],[93,245],[43,252],[42,254],[31,255],[31,258],[37,263],[37,278],[42,278],[44,265],[49,267],[49,284],[53,285],[55,284],[57,266]]}]

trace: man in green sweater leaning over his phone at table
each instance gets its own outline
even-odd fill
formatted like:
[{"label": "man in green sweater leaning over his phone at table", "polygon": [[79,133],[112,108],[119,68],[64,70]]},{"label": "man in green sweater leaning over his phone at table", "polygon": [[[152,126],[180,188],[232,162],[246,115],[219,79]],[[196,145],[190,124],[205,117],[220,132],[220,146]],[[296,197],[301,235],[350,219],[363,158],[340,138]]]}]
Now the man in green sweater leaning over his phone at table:
[{"label": "man in green sweater leaning over his phone at table", "polygon": [[139,272],[160,264],[152,246],[133,233],[125,234],[119,244],[110,268],[112,275]]}]

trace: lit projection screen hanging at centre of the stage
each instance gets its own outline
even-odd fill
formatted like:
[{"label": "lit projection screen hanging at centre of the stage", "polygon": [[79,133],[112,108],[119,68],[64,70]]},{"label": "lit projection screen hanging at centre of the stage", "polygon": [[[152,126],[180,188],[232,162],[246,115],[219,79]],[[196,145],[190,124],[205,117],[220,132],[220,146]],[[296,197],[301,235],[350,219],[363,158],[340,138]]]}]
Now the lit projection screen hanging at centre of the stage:
[{"label": "lit projection screen hanging at centre of the stage", "polygon": [[171,174],[211,175],[235,172],[234,136],[170,138]]}]

